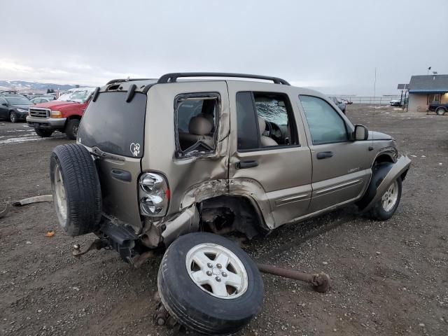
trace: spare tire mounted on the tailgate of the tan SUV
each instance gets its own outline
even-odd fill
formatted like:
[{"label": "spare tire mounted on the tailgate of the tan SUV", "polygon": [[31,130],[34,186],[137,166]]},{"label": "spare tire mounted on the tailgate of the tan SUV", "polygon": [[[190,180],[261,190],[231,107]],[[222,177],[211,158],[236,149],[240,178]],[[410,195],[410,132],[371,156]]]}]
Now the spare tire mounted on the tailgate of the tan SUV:
[{"label": "spare tire mounted on the tailgate of the tan SUV", "polygon": [[102,195],[89,151],[79,144],[57,146],[50,158],[50,179],[57,219],[67,235],[96,231]]}]

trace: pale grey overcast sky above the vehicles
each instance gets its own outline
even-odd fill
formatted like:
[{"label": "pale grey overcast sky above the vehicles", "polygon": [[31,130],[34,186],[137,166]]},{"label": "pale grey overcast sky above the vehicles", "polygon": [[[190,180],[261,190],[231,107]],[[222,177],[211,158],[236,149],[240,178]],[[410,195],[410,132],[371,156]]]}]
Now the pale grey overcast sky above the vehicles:
[{"label": "pale grey overcast sky above the vehicles", "polygon": [[2,1],[0,79],[103,85],[175,71],[394,94],[448,73],[447,0]]}]

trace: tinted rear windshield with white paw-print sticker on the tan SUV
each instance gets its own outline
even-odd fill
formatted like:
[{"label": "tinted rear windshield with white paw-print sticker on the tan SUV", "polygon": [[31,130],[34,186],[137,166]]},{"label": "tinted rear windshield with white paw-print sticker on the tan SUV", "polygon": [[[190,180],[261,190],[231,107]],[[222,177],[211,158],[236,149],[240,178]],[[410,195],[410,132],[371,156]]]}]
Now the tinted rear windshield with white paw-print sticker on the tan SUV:
[{"label": "tinted rear windshield with white paw-print sticker on the tan SUV", "polygon": [[85,110],[78,141],[106,153],[141,158],[143,155],[146,94],[136,93],[126,102],[127,92],[103,92]]}]

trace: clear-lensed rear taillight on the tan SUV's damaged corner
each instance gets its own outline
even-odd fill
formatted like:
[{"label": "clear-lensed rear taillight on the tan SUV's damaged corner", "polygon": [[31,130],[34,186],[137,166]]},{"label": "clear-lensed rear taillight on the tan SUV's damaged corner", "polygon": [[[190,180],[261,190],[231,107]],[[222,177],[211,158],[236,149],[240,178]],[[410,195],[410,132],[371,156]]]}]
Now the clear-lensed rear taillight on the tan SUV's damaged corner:
[{"label": "clear-lensed rear taillight on the tan SUV's damaged corner", "polygon": [[169,204],[168,183],[164,176],[144,173],[139,181],[140,211],[144,216],[165,216]]}]

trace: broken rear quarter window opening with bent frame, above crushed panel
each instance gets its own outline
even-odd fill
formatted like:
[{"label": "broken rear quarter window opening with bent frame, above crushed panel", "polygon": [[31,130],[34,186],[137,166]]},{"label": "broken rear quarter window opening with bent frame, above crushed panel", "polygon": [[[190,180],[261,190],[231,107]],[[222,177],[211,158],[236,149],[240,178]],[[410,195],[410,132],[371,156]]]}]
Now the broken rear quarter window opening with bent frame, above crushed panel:
[{"label": "broken rear quarter window opening with bent frame, above crushed panel", "polygon": [[176,157],[211,153],[215,149],[221,99],[216,93],[180,94],[174,100]]}]

